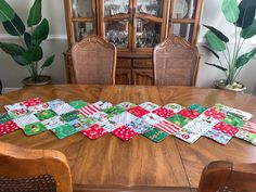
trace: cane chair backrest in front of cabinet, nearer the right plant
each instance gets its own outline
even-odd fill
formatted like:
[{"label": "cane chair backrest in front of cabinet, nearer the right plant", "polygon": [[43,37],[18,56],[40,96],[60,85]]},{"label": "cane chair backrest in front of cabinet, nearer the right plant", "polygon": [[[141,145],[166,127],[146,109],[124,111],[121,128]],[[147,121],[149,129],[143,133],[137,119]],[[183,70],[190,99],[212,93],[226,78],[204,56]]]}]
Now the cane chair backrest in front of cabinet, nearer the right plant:
[{"label": "cane chair backrest in front of cabinet, nearer the right plant", "polygon": [[183,38],[171,36],[153,51],[156,86],[194,86],[199,66],[199,51]]}]

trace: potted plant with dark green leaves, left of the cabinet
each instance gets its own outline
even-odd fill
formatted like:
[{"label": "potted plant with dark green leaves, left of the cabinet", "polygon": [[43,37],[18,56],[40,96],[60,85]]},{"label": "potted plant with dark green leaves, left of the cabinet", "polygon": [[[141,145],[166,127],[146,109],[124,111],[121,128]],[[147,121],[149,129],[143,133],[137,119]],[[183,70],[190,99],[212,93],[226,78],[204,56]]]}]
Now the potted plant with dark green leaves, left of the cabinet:
[{"label": "potted plant with dark green leaves, left of the cabinet", "polygon": [[30,8],[27,27],[11,5],[0,0],[0,21],[9,35],[18,37],[21,41],[20,44],[0,42],[0,48],[29,72],[30,76],[25,78],[23,84],[27,86],[49,84],[51,77],[42,75],[42,71],[53,63],[54,54],[43,63],[40,62],[43,59],[41,43],[49,35],[49,22],[41,15],[41,0],[35,0]]}]

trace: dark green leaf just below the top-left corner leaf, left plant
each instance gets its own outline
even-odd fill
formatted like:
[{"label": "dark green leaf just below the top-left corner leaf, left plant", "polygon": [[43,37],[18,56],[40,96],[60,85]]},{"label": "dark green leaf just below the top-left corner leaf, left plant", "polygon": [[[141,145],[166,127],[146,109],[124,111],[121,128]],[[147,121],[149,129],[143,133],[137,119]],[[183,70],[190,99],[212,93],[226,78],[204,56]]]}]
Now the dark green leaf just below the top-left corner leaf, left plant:
[{"label": "dark green leaf just below the top-left corner leaf, left plant", "polygon": [[2,25],[11,36],[23,36],[26,30],[23,21],[16,14],[12,21],[3,22]]}]

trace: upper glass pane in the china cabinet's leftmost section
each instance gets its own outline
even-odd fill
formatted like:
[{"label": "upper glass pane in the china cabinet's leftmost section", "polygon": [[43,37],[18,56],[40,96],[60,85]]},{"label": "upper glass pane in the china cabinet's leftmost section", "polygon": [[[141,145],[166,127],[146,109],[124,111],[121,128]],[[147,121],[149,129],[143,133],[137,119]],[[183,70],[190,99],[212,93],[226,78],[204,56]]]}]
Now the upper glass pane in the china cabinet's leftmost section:
[{"label": "upper glass pane in the china cabinet's leftmost section", "polygon": [[73,0],[73,17],[92,17],[91,0]]}]

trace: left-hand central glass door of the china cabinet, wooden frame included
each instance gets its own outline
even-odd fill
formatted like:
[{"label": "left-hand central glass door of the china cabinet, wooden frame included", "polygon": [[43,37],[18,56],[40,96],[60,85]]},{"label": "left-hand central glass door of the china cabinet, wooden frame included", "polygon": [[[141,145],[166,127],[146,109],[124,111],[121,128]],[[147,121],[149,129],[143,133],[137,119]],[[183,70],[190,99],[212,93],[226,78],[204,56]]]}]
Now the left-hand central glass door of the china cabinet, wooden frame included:
[{"label": "left-hand central glass door of the china cabinet, wooden frame included", "polygon": [[131,0],[101,0],[102,36],[119,50],[130,49],[131,3]]}]

